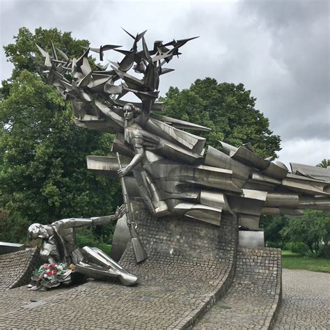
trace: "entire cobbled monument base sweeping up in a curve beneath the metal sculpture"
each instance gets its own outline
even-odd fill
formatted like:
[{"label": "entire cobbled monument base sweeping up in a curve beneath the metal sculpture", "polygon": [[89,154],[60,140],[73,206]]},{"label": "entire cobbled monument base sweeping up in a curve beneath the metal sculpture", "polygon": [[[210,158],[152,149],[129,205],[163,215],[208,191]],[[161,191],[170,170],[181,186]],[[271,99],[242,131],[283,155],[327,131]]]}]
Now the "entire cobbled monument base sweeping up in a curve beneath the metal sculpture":
[{"label": "entire cobbled monument base sweeping up in a curve beneath the metal sculpture", "polygon": [[281,299],[278,249],[239,247],[237,220],[229,213],[214,226],[184,217],[157,219],[140,203],[134,212],[149,258],[136,264],[129,242],[120,265],[139,276],[138,285],[114,280],[49,292],[2,290],[0,328],[270,327]]}]

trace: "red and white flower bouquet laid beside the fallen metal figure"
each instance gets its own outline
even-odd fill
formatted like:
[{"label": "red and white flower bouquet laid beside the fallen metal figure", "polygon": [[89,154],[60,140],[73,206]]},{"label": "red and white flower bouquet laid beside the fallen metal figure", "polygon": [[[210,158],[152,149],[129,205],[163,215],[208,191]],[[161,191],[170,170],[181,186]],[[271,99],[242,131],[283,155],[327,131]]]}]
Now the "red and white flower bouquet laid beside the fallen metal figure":
[{"label": "red and white flower bouquet laid beside the fallen metal figure", "polygon": [[69,267],[66,264],[54,262],[44,264],[33,271],[29,290],[47,290],[56,288],[61,284],[71,283],[71,274],[74,272],[74,265]]}]

